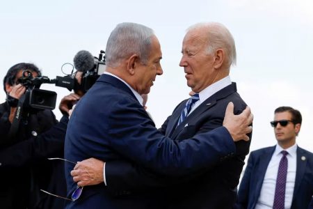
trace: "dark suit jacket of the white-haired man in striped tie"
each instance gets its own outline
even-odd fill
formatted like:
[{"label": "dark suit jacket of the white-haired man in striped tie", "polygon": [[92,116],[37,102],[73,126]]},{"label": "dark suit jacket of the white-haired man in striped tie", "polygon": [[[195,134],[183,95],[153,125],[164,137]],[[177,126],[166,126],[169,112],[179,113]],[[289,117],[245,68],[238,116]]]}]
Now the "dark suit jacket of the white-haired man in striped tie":
[{"label": "dark suit jacket of the white-haired man in striped tie", "polygon": [[[235,114],[241,113],[246,108],[246,103],[236,93],[236,84],[233,83],[200,104],[189,114],[186,121],[176,127],[186,101],[177,106],[160,129],[176,143],[220,127],[230,101],[234,102]],[[216,143],[222,142],[217,139]],[[207,168],[198,173],[176,178],[155,175],[156,173],[147,172],[136,164],[108,162],[106,182],[108,188],[116,194],[125,191],[145,194],[154,191],[159,197],[157,202],[159,208],[232,208],[236,201],[236,186],[245,157],[249,153],[249,146],[250,141],[236,142],[235,155],[223,157],[218,164],[211,166],[207,164]],[[122,168],[125,169],[124,172],[119,173]]]}]

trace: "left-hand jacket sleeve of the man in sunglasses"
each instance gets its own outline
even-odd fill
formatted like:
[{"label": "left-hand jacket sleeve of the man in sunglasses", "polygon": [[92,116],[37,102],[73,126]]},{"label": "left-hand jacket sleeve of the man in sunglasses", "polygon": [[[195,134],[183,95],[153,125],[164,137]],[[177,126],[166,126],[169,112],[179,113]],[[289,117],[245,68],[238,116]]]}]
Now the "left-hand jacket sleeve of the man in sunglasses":
[{"label": "left-hand jacket sleeve of the man in sunglasses", "polygon": [[254,153],[250,153],[248,164],[246,167],[246,171],[243,174],[243,178],[241,179],[239,191],[238,191],[238,199],[236,202],[236,208],[248,208],[248,200],[250,194],[250,179],[251,172],[254,166]]}]

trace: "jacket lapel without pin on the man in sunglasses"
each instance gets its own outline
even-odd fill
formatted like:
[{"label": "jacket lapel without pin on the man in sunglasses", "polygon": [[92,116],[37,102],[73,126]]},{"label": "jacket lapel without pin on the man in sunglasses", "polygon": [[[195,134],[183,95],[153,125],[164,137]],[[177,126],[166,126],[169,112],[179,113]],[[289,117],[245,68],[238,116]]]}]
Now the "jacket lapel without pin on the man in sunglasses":
[{"label": "jacket lapel without pin on the man in sunglasses", "polygon": [[269,148],[264,149],[264,152],[260,153],[259,155],[259,166],[257,167],[256,177],[255,179],[255,201],[259,198],[259,193],[261,192],[261,188],[264,181],[264,176],[268,167],[269,162],[273,156],[276,146],[272,146]]}]

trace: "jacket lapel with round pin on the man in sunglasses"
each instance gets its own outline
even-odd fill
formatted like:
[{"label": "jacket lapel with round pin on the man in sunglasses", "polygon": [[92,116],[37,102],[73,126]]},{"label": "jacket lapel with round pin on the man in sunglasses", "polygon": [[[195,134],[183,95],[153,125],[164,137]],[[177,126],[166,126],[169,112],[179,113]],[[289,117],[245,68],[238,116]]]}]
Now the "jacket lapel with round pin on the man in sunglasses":
[{"label": "jacket lapel with round pin on the man in sunglasses", "polygon": [[298,189],[300,187],[301,180],[303,178],[303,175],[305,173],[305,167],[307,166],[307,155],[305,153],[305,150],[298,147],[297,148],[297,167],[296,167],[296,182],[294,183],[294,196],[293,201],[295,197],[297,196]]}]

